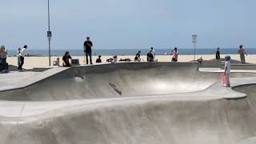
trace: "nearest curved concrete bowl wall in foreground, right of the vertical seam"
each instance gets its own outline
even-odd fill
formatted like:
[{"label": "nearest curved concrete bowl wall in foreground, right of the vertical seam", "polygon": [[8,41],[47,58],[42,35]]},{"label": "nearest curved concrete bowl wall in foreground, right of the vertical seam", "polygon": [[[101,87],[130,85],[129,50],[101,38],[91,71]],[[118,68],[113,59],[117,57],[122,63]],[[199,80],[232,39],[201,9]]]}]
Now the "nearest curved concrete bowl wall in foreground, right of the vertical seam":
[{"label": "nearest curved concrete bowl wall in foreground, right of the vertical seam", "polygon": [[[251,96],[255,97],[254,94]],[[75,102],[70,101],[69,106],[62,109],[21,118],[22,122],[18,124],[19,142],[33,144],[255,143],[256,114],[248,98],[106,99],[108,100],[86,104],[74,104]]]}]

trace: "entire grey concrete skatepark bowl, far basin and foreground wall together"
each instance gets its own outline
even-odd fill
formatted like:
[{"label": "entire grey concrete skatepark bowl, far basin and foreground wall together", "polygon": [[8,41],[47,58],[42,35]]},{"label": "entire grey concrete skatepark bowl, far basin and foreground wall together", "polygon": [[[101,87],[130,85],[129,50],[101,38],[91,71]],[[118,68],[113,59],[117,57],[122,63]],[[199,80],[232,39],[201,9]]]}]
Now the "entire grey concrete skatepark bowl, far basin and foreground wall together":
[{"label": "entire grey concrete skatepark bowl, far basin and foreground wall together", "polygon": [[0,143],[256,143],[256,73],[232,73],[232,89],[221,74],[194,62],[72,67],[0,92]]}]

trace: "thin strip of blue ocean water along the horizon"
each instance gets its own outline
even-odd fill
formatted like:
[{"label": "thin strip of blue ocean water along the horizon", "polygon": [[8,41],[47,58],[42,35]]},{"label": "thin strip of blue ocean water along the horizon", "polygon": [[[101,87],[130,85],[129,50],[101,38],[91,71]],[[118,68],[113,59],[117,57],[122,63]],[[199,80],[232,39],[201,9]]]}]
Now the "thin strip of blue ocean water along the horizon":
[{"label": "thin strip of blue ocean water along the horizon", "polygon": [[[123,49],[123,50],[93,50],[93,55],[135,55],[139,49]],[[256,54],[256,48],[245,49],[248,54]],[[9,56],[14,56],[17,50],[8,50]],[[70,51],[70,54],[73,56],[82,56],[82,50],[51,50],[51,55],[62,56],[65,51]],[[142,49],[142,55],[146,55],[149,50]],[[170,54],[171,49],[155,49],[157,55],[163,55],[165,53]],[[196,54],[215,54],[216,49],[197,49]],[[37,56],[48,56],[48,50],[31,50],[28,49],[26,54],[37,55]],[[179,49],[180,55],[194,55],[194,49]],[[221,54],[238,54],[238,49],[228,48],[222,49]]]}]

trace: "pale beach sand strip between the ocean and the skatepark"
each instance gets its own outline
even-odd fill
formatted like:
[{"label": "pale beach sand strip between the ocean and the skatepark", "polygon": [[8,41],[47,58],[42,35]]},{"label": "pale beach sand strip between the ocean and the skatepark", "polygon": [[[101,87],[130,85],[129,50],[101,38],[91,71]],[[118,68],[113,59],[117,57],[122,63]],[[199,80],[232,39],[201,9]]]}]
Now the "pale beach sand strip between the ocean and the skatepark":
[{"label": "pale beach sand strip between the ocean and the skatepark", "polygon": [[[106,59],[111,58],[113,56],[102,56],[102,63],[107,63]],[[214,54],[211,55],[196,55],[196,59],[201,58],[203,60],[211,60],[215,58]],[[221,55],[221,58],[224,58],[225,55]],[[61,59],[61,64],[62,64],[62,58],[61,57],[51,57],[51,64],[53,64],[53,61],[55,61],[57,58]],[[79,62],[81,65],[84,65],[84,58],[83,56],[72,56],[74,59],[79,59]],[[93,56],[93,62],[95,63],[96,59],[98,56]],[[130,58],[132,61],[134,60],[134,55],[125,55],[125,56],[118,56],[118,60],[120,58]],[[171,61],[171,56],[170,55],[157,55],[156,59],[158,59],[158,62],[170,62]],[[240,61],[240,57],[238,54],[231,54],[231,58],[234,60]],[[141,56],[142,62],[146,62],[146,55]],[[179,55],[178,56],[178,62],[190,62],[194,60],[194,55]],[[8,57],[7,62],[10,65],[17,66],[17,58],[16,57]],[[246,62],[249,63],[256,63],[256,54],[254,55],[248,55],[246,57]],[[48,57],[26,57],[25,58],[25,63],[24,63],[24,68],[25,69],[31,69],[34,67],[46,67],[49,66],[49,58]]]}]

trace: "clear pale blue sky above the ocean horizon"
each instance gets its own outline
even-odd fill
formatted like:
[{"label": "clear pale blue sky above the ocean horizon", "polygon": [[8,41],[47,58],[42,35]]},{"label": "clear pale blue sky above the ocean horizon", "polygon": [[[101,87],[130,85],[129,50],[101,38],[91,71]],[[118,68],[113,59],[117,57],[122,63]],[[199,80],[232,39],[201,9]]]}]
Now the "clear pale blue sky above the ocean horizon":
[{"label": "clear pale blue sky above the ocean horizon", "polygon": [[[0,45],[47,49],[47,0],[0,0]],[[256,48],[255,0],[50,0],[52,49]]]}]

